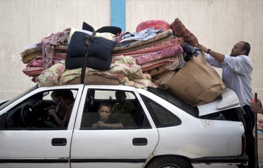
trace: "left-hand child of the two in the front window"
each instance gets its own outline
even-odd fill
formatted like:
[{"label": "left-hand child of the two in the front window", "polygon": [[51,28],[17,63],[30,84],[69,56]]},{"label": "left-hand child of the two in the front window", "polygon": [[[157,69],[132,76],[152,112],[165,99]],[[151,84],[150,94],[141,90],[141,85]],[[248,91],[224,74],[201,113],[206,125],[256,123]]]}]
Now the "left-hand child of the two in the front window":
[{"label": "left-hand child of the two in the front window", "polygon": [[[67,109],[68,109],[68,105],[66,104],[63,104],[61,102],[61,99],[59,97],[59,91],[58,90],[54,90],[52,93],[51,93],[51,98],[53,100],[53,102],[56,104],[51,106],[50,108],[48,109],[54,109],[55,112],[56,112],[56,115],[59,119],[63,120],[64,117],[65,117],[65,114],[67,112]],[[54,117],[51,117],[51,118],[48,118],[48,119],[53,119]]]}]

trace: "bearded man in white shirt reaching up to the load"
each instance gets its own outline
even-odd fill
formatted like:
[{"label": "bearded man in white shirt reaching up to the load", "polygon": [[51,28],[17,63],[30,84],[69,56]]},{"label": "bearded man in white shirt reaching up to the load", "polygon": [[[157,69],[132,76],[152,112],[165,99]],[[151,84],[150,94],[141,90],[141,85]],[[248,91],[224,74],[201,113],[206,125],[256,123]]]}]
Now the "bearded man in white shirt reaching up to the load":
[{"label": "bearded man in white shirt reaching up to the load", "polygon": [[234,45],[230,55],[215,52],[207,49],[203,45],[200,45],[198,48],[206,52],[207,62],[211,66],[223,68],[223,82],[226,87],[233,90],[239,98],[239,104],[245,111],[245,153],[249,158],[247,168],[255,168],[254,112],[250,108],[250,101],[253,100],[251,88],[253,68],[248,57],[250,45],[244,41],[238,42]]}]

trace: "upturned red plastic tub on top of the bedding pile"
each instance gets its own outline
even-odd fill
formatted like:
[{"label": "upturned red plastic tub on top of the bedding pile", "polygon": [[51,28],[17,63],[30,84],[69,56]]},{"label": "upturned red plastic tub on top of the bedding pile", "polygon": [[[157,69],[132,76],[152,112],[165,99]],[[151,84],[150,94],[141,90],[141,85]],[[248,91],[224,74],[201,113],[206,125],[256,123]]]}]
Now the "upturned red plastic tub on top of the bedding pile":
[{"label": "upturned red plastic tub on top of the bedding pile", "polygon": [[154,27],[154,30],[157,29],[164,29],[164,32],[170,29],[170,25],[167,21],[164,20],[148,20],[148,21],[144,21],[141,22],[140,24],[138,24],[137,28],[136,28],[136,32],[141,32],[144,29],[150,28],[150,27]]}]

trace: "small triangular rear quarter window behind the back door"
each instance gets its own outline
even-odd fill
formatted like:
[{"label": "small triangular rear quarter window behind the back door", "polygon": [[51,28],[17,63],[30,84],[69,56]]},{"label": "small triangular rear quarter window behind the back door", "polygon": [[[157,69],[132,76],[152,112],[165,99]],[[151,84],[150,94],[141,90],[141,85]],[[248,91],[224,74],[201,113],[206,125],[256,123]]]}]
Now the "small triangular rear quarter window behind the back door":
[{"label": "small triangular rear quarter window behind the back door", "polygon": [[156,127],[169,127],[181,124],[181,120],[155,101],[141,95],[142,100],[150,112]]}]

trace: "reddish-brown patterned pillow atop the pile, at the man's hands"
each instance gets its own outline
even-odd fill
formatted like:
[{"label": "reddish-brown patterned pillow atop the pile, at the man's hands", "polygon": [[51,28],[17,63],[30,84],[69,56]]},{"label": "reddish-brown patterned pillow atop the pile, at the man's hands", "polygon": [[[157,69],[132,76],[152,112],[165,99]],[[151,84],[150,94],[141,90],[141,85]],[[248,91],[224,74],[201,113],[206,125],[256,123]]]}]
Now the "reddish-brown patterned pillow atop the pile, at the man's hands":
[{"label": "reddish-brown patterned pillow atop the pile, at the man's hands", "polygon": [[174,22],[170,24],[172,29],[172,34],[177,37],[182,37],[185,39],[185,42],[194,47],[198,47],[199,43],[194,34],[192,34],[188,29],[183,25],[183,23],[176,18]]}]

